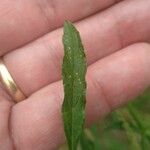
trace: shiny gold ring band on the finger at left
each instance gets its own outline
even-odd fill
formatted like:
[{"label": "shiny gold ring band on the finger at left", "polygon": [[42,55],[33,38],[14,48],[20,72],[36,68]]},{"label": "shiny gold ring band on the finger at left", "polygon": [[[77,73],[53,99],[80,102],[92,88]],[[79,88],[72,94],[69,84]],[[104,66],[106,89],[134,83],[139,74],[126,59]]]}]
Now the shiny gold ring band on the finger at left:
[{"label": "shiny gold ring band on the finger at left", "polygon": [[19,89],[3,60],[0,59],[0,78],[8,94],[13,98],[15,102],[23,101],[26,97]]}]

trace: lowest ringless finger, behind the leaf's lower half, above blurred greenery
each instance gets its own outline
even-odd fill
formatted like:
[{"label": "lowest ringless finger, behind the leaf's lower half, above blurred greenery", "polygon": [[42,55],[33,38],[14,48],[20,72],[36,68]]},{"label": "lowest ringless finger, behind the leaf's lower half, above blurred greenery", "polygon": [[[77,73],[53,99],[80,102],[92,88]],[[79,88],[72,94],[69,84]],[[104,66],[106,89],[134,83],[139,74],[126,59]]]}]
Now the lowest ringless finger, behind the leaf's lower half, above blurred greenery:
[{"label": "lowest ringless finger, behind the leaf's lower half, above blurred greenery", "polygon": [[[149,57],[150,45],[141,43],[89,67],[88,123],[104,117],[110,110],[123,105],[150,85]],[[12,130],[18,149],[49,150],[56,149],[62,143],[62,100],[62,83],[56,82],[14,106]]]}]

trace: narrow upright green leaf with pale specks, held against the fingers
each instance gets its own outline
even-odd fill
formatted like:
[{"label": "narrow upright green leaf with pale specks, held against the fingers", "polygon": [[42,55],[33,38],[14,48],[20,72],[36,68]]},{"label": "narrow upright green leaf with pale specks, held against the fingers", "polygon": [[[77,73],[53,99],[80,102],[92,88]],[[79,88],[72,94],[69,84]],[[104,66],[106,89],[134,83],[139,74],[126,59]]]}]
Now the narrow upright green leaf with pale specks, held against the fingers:
[{"label": "narrow upright green leaf with pale specks, held against the fingers", "polygon": [[68,21],[64,24],[63,44],[65,54],[62,76],[65,96],[62,114],[68,147],[76,150],[85,122],[87,65],[79,32]]}]

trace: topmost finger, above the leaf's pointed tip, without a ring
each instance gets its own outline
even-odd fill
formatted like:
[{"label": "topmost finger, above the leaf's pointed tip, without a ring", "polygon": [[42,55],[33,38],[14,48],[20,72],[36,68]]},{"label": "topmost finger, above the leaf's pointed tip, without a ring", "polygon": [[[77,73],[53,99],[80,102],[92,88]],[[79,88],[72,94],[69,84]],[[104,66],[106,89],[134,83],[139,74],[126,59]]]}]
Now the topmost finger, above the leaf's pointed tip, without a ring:
[{"label": "topmost finger, above the leaf's pointed tip, without a ring", "polygon": [[[5,0],[0,2],[0,55],[114,4],[114,0]],[[77,11],[76,11],[77,10]]]}]

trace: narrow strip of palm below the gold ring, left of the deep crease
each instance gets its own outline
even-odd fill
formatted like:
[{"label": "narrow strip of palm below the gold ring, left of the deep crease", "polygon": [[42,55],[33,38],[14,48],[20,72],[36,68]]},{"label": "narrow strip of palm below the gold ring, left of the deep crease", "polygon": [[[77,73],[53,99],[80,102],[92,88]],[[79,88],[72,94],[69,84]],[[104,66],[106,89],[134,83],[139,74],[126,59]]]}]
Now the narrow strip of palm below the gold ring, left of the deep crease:
[{"label": "narrow strip of palm below the gold ring, left of the deep crease", "polygon": [[13,150],[12,136],[10,134],[10,118],[13,103],[0,84],[0,149]]}]

